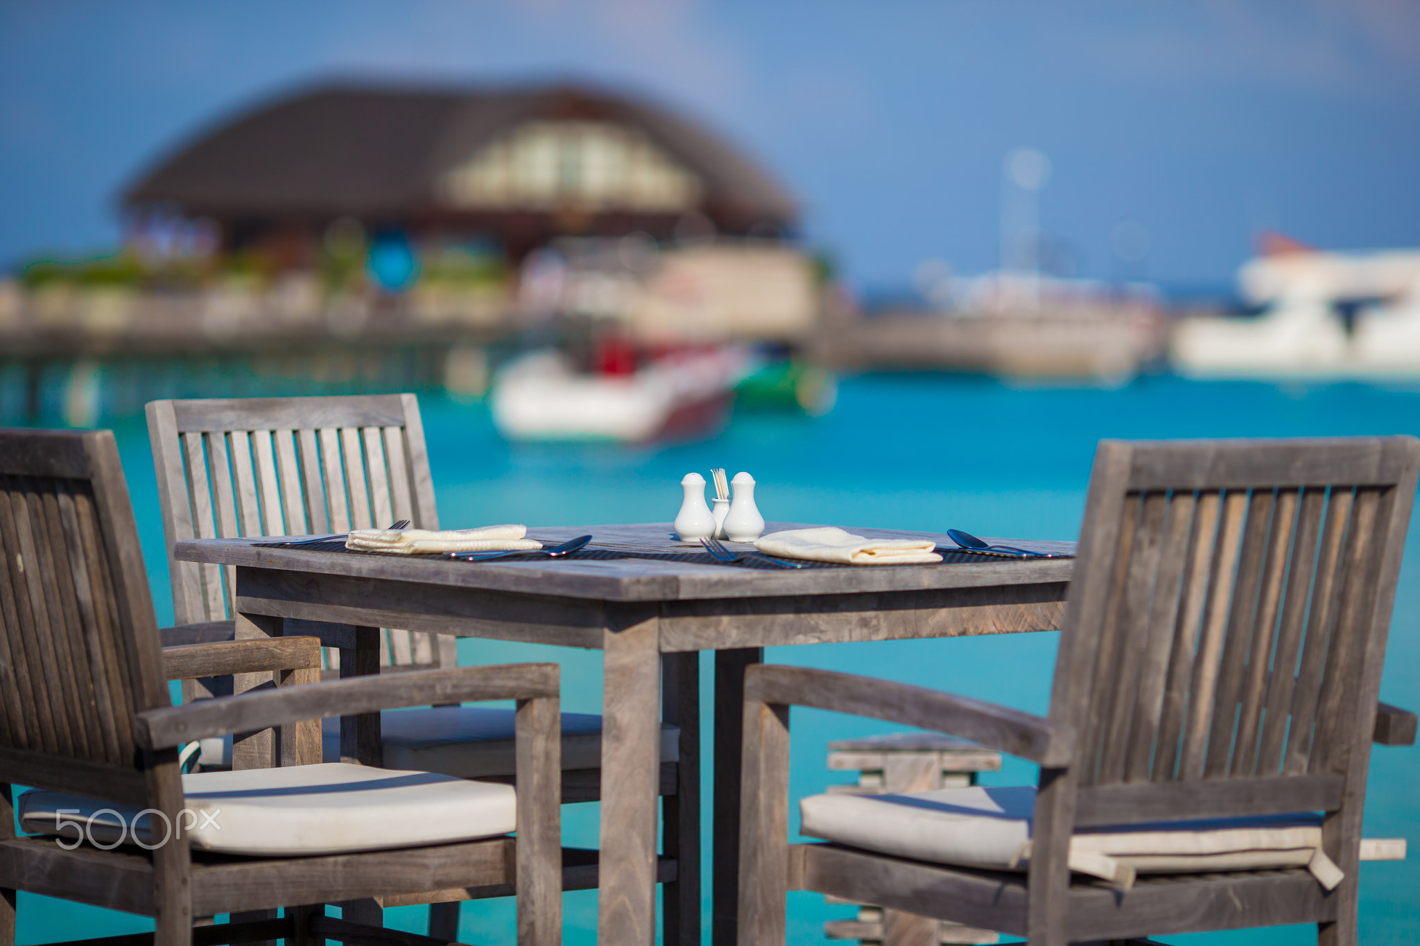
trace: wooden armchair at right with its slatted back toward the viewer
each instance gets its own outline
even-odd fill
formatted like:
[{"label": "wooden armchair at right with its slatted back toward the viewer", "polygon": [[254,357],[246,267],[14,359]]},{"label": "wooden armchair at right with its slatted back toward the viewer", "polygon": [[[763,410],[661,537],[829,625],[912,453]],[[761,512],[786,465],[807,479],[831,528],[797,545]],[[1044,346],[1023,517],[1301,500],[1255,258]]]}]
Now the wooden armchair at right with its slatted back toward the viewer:
[{"label": "wooden armchair at right with its slatted back toward the viewer", "polygon": [[[1413,740],[1414,716],[1376,695],[1417,468],[1410,437],[1102,443],[1047,718],[748,668],[740,942],[782,943],[785,891],[814,889],[1038,946],[1281,923],[1355,943],[1369,743]],[[790,705],[971,739],[1038,763],[1039,783],[848,797],[879,806],[856,825],[805,798],[805,833],[831,842],[790,845]],[[971,807],[983,796],[1004,814]],[[905,814],[916,837],[882,841]],[[1281,825],[1299,850],[1238,850],[1278,847]],[[1109,875],[1086,862],[1102,841],[1133,834],[1159,858],[1220,827],[1251,840],[1106,858],[1112,882],[1081,872]],[[964,831],[1007,828],[1014,862],[963,852]]]}]

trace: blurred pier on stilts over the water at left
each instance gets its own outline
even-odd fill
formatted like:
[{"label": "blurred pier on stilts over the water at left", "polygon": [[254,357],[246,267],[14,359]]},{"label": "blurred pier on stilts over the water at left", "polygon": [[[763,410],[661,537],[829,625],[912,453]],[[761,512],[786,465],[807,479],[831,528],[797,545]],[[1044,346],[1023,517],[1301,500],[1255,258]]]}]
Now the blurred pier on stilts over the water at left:
[{"label": "blurred pier on stilts over the water at left", "polygon": [[0,423],[142,413],[166,397],[392,393],[480,396],[503,309],[278,294],[21,294],[0,285]]}]

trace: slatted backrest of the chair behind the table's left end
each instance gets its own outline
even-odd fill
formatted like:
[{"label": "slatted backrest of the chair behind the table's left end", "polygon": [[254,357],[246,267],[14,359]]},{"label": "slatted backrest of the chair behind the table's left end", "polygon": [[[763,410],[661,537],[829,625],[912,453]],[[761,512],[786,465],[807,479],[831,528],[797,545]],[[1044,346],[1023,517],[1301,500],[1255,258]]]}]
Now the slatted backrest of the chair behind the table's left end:
[{"label": "slatted backrest of the chair behind the table's left end", "polygon": [[[148,421],[180,624],[230,617],[234,570],[173,560],[179,539],[439,528],[413,394],[153,401]],[[396,664],[447,657],[393,634]]]}]

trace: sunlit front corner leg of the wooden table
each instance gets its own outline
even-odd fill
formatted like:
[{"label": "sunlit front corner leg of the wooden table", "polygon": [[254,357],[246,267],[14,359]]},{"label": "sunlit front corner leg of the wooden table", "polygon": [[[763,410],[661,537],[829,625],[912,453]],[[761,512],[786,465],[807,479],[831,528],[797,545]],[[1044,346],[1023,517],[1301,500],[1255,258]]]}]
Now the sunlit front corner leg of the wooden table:
[{"label": "sunlit front corner leg of the wooden table", "polygon": [[606,606],[596,942],[656,940],[660,651],[656,606]]}]

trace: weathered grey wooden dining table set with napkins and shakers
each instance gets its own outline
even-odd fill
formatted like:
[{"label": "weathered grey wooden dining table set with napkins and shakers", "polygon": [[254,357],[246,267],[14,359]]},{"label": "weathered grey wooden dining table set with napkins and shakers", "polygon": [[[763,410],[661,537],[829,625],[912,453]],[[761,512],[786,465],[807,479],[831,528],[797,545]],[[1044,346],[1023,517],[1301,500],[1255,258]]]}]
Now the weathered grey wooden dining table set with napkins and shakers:
[{"label": "weathered grey wooden dining table set with napkins and shakers", "polygon": [[[771,522],[767,530],[807,528]],[[869,538],[947,536],[852,529]],[[591,533],[562,559],[457,562],[190,539],[180,560],[236,569],[237,637],[318,633],[378,672],[375,628],[602,651],[598,942],[652,946],[656,884],[674,859],[666,942],[700,942],[699,652],[714,651],[713,943],[736,930],[744,668],[765,647],[1015,634],[1059,627],[1072,559],[949,555],[937,564],[778,569],[717,563],[669,523],[532,528],[545,545]],[[1007,542],[1007,540],[1001,540]],[[1074,555],[1072,542],[1010,545]],[[731,549],[751,546],[731,543]],[[317,623],[317,624],[311,624]],[[300,628],[300,630],[297,630]],[[344,658],[342,658],[344,661]],[[240,684],[239,684],[240,689]],[[680,728],[680,784],[657,859],[660,723]],[[342,745],[379,745],[378,715],[342,720]],[[358,732],[351,732],[359,726]],[[236,756],[239,757],[239,749]],[[673,823],[673,824],[672,824]]]}]

